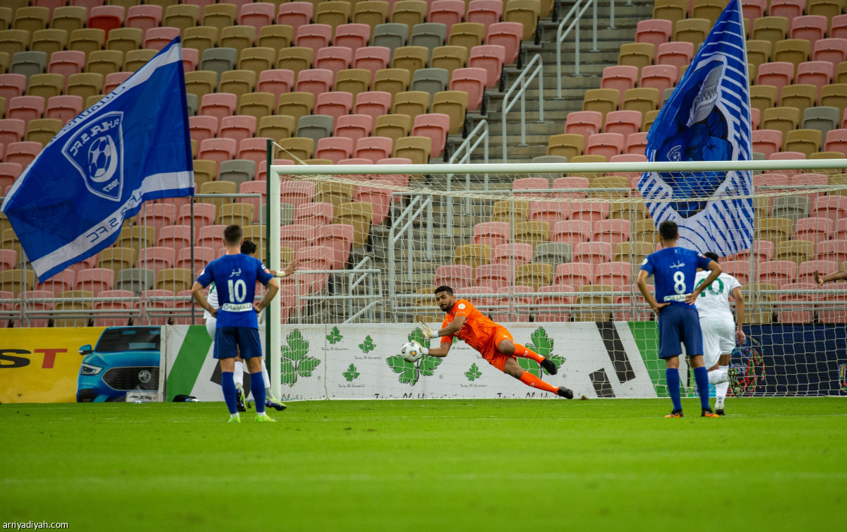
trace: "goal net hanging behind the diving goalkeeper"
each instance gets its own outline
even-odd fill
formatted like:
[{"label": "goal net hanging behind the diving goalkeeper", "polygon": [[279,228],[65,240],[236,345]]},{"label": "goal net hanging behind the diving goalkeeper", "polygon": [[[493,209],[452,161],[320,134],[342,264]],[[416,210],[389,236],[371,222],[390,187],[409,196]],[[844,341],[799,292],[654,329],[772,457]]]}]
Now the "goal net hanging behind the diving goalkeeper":
[{"label": "goal net hanging behind the diving goalkeeper", "polygon": [[418,321],[440,328],[433,292],[449,285],[555,361],[550,375],[518,358],[551,385],[667,396],[656,320],[635,280],[661,248],[653,217],[670,209],[680,245],[717,252],[743,287],[748,340],[731,365],[744,395],[844,395],[847,285],[819,287],[814,274],[847,269],[845,168],[841,159],[271,167],[261,246],[273,269],[300,263],[280,280],[268,320],[279,324],[267,340],[280,355],[274,385],[289,398],[551,396],[461,341],[445,358],[400,357],[407,341],[429,345]]}]

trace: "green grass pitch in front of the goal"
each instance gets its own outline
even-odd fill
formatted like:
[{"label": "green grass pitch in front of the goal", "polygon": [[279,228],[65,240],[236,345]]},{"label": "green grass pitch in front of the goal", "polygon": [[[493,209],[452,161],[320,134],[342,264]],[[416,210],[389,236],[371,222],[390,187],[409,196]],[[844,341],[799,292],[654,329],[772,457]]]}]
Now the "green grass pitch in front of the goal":
[{"label": "green grass pitch in front of the goal", "polygon": [[[0,406],[0,522],[70,529],[837,529],[844,398]],[[252,411],[251,411],[252,413]],[[696,417],[695,417],[696,414]]]}]

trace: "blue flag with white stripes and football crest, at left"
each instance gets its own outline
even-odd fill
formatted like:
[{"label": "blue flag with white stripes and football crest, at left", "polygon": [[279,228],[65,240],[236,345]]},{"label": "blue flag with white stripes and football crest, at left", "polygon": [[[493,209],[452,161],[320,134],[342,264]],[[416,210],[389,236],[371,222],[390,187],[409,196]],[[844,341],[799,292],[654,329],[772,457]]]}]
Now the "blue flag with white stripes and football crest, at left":
[{"label": "blue flag with white stripes and football crest, at left", "polygon": [[14,182],[2,210],[43,282],[112,245],[143,202],[193,193],[177,37],[65,125]]}]

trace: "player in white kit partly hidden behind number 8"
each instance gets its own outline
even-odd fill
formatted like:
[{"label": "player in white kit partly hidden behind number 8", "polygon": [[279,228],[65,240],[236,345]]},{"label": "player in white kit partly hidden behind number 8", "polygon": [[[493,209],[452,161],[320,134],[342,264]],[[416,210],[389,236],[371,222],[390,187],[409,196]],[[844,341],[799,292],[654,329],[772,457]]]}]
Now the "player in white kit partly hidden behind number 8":
[{"label": "player in white kit partly hidden behind number 8", "polygon": [[[707,258],[717,263],[717,253],[703,253]],[[697,272],[695,287],[699,286],[709,275],[707,271]],[[729,296],[735,300],[735,314],[729,309]],[[732,386],[736,397],[741,395],[738,375],[735,369],[729,369],[729,357],[735,348],[735,341],[743,344],[744,331],[744,296],[741,294],[741,283],[730,274],[720,274],[717,279],[700,292],[695,303],[700,314],[700,330],[703,331],[703,362],[709,370],[709,383],[715,385],[717,400],[715,413],[725,415],[723,402],[727,398],[727,390]]]}]

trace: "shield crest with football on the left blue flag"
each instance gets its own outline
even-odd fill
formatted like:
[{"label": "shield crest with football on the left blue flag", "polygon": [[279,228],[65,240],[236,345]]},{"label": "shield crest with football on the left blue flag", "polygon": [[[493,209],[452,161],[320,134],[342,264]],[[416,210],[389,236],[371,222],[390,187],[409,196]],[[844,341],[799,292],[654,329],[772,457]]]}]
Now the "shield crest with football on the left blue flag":
[{"label": "shield crest with football on the left blue flag", "polygon": [[124,187],[124,133],[120,111],[96,115],[77,127],[62,147],[62,153],[92,194],[120,201]]}]

